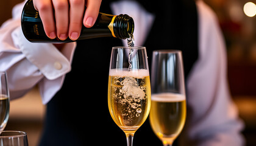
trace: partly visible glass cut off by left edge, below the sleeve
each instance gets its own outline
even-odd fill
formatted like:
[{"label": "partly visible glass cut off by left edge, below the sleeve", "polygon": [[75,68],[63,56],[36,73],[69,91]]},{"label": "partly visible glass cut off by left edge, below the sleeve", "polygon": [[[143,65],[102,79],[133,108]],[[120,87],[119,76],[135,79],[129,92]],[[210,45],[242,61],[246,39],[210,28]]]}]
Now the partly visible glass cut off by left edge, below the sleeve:
[{"label": "partly visible glass cut off by left edge, below the sleeve", "polygon": [[0,71],[0,131],[4,130],[9,119],[10,97],[5,72]]}]

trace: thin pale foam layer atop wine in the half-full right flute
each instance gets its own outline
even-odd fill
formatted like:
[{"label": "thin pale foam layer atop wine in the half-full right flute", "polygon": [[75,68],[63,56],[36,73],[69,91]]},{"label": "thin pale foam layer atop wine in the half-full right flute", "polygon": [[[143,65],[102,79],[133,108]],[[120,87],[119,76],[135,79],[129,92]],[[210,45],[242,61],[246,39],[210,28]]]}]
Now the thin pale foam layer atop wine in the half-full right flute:
[{"label": "thin pale foam layer atop wine in the half-full right flute", "polygon": [[151,100],[155,102],[182,102],[186,97],[182,94],[164,92],[159,94],[152,94]]}]

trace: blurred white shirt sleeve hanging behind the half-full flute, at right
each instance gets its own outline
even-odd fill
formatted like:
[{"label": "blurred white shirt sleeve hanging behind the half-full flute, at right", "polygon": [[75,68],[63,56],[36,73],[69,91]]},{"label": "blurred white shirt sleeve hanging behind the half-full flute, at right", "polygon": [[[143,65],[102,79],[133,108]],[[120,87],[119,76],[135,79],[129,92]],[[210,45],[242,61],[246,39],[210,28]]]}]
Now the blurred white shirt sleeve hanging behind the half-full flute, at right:
[{"label": "blurred white shirt sleeve hanging behind the half-full flute, at right", "polygon": [[187,110],[183,145],[243,145],[243,123],[230,98],[226,46],[215,13],[197,1],[199,58],[187,80]]}]

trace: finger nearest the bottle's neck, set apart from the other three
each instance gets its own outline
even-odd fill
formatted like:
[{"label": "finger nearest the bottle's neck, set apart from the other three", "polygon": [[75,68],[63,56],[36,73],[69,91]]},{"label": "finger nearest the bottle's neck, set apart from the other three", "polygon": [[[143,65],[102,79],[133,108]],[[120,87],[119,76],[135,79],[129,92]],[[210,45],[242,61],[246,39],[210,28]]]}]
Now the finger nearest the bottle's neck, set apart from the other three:
[{"label": "finger nearest the bottle's neck, set apart from the other three", "polygon": [[98,17],[99,7],[101,6],[101,0],[88,0],[87,9],[85,10],[84,26],[92,27]]}]

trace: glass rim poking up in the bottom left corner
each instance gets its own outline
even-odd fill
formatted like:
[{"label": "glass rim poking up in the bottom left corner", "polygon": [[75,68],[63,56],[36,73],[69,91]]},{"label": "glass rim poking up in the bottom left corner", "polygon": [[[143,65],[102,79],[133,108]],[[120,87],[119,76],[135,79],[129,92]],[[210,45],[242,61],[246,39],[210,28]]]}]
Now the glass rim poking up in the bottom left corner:
[{"label": "glass rim poking up in the bottom left corner", "polygon": [[28,146],[27,133],[23,131],[0,131],[1,146]]}]

